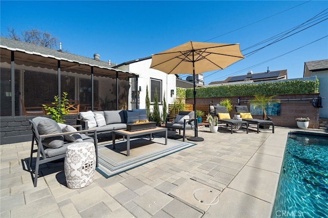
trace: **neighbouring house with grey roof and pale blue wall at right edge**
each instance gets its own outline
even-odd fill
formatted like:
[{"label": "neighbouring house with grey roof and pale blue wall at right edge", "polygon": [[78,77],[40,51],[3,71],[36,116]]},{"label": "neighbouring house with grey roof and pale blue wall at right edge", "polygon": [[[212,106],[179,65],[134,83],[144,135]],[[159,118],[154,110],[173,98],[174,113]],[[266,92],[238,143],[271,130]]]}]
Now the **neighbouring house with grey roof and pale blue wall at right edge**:
[{"label": "neighbouring house with grey roof and pale blue wall at right edge", "polygon": [[322,108],[319,110],[320,118],[328,118],[328,59],[304,62],[303,77],[317,76],[319,79],[319,93]]}]

